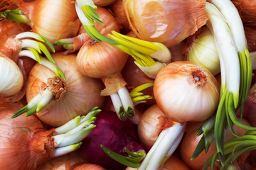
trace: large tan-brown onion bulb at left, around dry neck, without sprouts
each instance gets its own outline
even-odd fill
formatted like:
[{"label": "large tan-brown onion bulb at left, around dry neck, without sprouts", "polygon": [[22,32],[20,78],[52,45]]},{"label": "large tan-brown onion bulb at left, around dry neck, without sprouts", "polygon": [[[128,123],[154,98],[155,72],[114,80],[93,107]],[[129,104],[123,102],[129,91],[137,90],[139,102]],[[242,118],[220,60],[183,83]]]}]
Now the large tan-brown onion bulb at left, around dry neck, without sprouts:
[{"label": "large tan-brown onion bulb at left, around dry neck, without sprouts", "polygon": [[[57,52],[52,56],[55,64],[65,74],[66,79],[63,81],[65,92],[58,100],[50,101],[46,108],[36,115],[43,123],[58,127],[77,115],[86,115],[95,106],[100,108],[104,102],[104,96],[100,96],[100,91],[104,86],[100,80],[85,77],[78,71],[75,54],[64,56],[61,52]],[[55,74],[50,69],[36,64],[28,77],[27,101],[31,101],[43,91],[48,78],[52,77],[55,77]]]}]

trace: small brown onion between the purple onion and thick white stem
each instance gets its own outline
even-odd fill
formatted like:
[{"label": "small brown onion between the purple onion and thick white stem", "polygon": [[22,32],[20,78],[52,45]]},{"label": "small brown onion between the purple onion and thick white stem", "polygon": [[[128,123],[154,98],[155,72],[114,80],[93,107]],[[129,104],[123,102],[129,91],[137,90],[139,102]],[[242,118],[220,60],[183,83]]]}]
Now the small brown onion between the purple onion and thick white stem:
[{"label": "small brown onion between the purple onion and thick white stem", "polygon": [[139,140],[144,146],[151,147],[154,145],[161,130],[163,130],[165,120],[166,115],[156,104],[144,111],[138,124]]}]

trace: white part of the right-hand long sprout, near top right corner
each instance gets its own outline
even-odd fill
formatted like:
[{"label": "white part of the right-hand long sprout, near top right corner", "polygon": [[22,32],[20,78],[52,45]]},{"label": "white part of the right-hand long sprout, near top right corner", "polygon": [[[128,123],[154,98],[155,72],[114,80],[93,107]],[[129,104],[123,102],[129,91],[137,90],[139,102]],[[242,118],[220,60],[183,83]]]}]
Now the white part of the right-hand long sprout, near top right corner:
[{"label": "white part of the right-hand long sprout, near top right corner", "polygon": [[242,52],[246,48],[245,30],[242,20],[238,13],[238,9],[230,0],[211,0],[211,2],[221,11],[225,21],[228,23],[230,31],[233,35],[235,45],[238,52]]}]

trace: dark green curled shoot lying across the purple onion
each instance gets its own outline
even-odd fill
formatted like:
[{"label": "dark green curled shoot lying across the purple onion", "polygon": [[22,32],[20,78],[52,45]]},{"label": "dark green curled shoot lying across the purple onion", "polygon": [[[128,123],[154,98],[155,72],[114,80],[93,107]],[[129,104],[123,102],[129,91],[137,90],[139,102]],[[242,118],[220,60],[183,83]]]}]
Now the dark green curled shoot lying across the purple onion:
[{"label": "dark green curled shoot lying across the purple onion", "polygon": [[100,145],[100,147],[102,147],[103,151],[115,161],[132,168],[139,168],[140,162],[142,162],[142,160],[146,156],[146,152],[144,150],[130,152],[127,148],[124,147],[125,151],[128,154],[128,157],[125,157],[121,154],[117,154],[116,152],[113,152],[112,150],[108,149],[103,145]]}]

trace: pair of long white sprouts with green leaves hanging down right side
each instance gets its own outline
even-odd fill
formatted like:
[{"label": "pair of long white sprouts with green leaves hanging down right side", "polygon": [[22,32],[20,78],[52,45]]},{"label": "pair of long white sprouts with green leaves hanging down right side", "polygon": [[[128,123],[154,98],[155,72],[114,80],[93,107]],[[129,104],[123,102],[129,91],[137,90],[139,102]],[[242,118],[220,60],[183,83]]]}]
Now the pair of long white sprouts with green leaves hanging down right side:
[{"label": "pair of long white sprouts with green leaves hanging down right side", "polygon": [[225,127],[228,125],[230,132],[235,136],[238,135],[233,130],[233,124],[247,130],[256,130],[256,128],[240,123],[235,116],[236,109],[243,105],[250,90],[252,64],[242,22],[235,6],[229,0],[213,0],[212,2],[213,4],[206,3],[206,15],[209,18],[206,25],[215,38],[221,72],[220,101],[214,123],[214,138],[218,157],[221,164],[224,164]]}]

